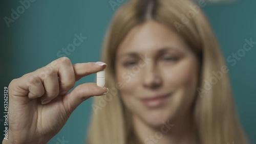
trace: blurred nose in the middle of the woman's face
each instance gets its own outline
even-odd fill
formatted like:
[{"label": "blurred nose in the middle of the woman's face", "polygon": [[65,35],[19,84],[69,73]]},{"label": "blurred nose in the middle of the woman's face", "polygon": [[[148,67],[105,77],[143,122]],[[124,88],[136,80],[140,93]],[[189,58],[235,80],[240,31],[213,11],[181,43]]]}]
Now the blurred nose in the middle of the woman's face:
[{"label": "blurred nose in the middle of the woman's face", "polygon": [[148,63],[143,68],[142,84],[145,88],[157,89],[162,85],[160,69],[153,63]]}]

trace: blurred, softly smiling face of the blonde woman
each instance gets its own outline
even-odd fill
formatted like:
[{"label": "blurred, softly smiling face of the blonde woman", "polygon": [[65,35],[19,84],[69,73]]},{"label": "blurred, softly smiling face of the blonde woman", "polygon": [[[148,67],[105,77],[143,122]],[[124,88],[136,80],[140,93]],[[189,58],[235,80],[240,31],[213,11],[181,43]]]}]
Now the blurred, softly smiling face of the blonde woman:
[{"label": "blurred, softly smiling face of the blonde woman", "polygon": [[199,61],[183,38],[156,21],[134,27],[117,50],[124,105],[152,126],[190,112],[198,73]]}]

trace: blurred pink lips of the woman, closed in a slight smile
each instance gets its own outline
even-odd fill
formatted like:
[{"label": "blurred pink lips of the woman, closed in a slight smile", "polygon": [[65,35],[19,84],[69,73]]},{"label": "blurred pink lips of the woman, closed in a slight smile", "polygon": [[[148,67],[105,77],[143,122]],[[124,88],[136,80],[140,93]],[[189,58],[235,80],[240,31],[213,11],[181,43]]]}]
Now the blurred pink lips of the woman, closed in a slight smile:
[{"label": "blurred pink lips of the woman, closed in a slight smile", "polygon": [[162,106],[166,100],[170,97],[170,93],[165,94],[165,95],[157,95],[152,98],[144,98],[141,99],[141,102],[148,108],[155,108]]}]

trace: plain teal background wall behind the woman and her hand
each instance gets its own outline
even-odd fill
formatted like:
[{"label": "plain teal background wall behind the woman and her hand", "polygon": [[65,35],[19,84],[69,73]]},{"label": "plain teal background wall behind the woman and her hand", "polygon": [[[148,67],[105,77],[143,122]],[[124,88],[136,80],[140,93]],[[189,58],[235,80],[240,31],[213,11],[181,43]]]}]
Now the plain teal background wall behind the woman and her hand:
[{"label": "plain teal background wall behind the woman and her hand", "polygon": [[[115,1],[116,2],[116,1]],[[1,86],[36,70],[54,59],[57,52],[73,42],[74,34],[87,37],[74,52],[67,55],[72,63],[99,61],[103,36],[116,8],[109,1],[35,1],[8,28],[4,16],[11,17],[11,9],[18,1],[1,2]],[[124,2],[122,2],[124,3]],[[243,48],[244,39],[256,41],[256,1],[241,0],[232,5],[204,7],[227,58]],[[238,113],[252,143],[256,143],[256,45],[231,66],[228,64]],[[94,82],[95,75],[85,77],[76,85]],[[3,100],[1,99],[3,104]],[[58,138],[69,143],[84,143],[91,115],[92,99],[83,102],[71,115],[67,124],[49,141]],[[1,136],[3,137],[3,106],[1,105]],[[232,142],[232,141],[230,141]],[[236,143],[236,142],[235,142]]]}]

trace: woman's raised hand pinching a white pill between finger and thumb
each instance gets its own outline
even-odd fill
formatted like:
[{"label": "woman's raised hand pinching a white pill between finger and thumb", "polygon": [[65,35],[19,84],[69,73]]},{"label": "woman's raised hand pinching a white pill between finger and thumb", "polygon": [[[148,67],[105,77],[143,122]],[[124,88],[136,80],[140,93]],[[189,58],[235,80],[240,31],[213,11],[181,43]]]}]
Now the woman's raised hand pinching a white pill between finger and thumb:
[{"label": "woman's raised hand pinching a white pill between finger and thumb", "polygon": [[9,85],[8,140],[3,143],[47,143],[83,101],[108,92],[84,83],[67,93],[80,78],[103,70],[102,62],[72,65],[67,57],[52,61]]}]

